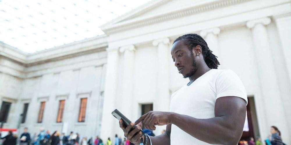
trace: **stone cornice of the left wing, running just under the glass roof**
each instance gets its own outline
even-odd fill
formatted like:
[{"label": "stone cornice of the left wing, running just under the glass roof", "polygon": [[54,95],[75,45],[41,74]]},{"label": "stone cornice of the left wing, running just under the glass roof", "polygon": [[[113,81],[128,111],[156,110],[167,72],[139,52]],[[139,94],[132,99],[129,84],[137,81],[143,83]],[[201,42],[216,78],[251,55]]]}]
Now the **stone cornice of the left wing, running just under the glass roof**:
[{"label": "stone cornice of the left wing, running just under the glass roof", "polygon": [[63,46],[58,46],[56,48],[42,50],[40,52],[31,54],[24,53],[17,48],[0,43],[0,58],[3,57],[25,67],[29,67],[51,61],[59,61],[78,57],[81,55],[105,51],[107,46],[108,42],[106,35],[76,41],[70,44],[65,44]]}]

